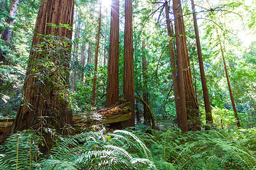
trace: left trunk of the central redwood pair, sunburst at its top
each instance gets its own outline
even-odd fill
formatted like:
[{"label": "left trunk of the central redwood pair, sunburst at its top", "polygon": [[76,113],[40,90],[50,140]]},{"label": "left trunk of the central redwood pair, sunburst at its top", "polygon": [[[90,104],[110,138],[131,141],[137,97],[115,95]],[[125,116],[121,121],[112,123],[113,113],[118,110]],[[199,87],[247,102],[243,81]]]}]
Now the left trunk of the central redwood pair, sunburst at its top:
[{"label": "left trunk of the central redwood pair, sunburst at its top", "polygon": [[119,0],[112,0],[110,23],[110,52],[107,67],[106,107],[119,98]]}]

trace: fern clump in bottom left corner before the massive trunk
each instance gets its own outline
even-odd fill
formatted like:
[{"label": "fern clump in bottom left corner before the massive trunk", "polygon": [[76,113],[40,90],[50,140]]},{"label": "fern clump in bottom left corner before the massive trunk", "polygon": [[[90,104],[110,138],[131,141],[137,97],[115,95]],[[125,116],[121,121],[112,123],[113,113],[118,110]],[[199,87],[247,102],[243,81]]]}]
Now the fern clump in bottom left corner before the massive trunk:
[{"label": "fern clump in bottom left corner before the massive trunk", "polygon": [[4,146],[0,146],[0,169],[34,169],[40,142],[30,130],[11,135]]}]

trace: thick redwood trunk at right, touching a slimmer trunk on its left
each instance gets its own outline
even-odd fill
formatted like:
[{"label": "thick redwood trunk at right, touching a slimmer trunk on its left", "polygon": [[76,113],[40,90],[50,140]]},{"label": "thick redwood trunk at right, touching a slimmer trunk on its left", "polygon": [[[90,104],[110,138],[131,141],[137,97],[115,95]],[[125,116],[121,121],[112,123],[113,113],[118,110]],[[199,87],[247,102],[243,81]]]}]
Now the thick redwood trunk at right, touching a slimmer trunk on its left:
[{"label": "thick redwood trunk at right, touching a slimmer trunk on its left", "polygon": [[[188,116],[188,130],[201,130],[199,108],[198,108],[195,91],[193,89],[191,67],[190,67],[190,62],[188,57],[188,46],[186,44],[186,33],[185,33],[183,13],[181,8],[181,0],[174,0],[174,1],[176,5],[174,6],[174,15],[177,20],[175,23],[177,53],[179,54],[179,50],[181,50],[181,55],[183,57],[183,60],[182,60],[183,79],[184,79],[185,89],[186,89],[186,112]],[[178,43],[181,45],[181,47],[178,47]],[[180,75],[181,74],[178,74],[178,77]],[[181,106],[181,108],[183,107]]]}]

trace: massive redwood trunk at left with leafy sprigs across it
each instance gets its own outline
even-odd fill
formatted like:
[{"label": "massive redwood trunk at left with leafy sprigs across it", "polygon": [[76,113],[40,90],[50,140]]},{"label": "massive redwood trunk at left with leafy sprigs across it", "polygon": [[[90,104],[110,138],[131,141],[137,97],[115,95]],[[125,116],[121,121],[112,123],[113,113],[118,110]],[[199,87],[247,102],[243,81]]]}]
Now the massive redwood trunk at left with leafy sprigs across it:
[{"label": "massive redwood trunk at left with leafy sprigs across it", "polygon": [[[61,45],[65,38],[72,38],[73,31],[68,28],[56,29],[47,26],[47,23],[57,26],[60,23],[73,26],[73,13],[74,0],[45,0],[41,2],[32,45],[38,45],[44,41],[38,34],[58,35],[54,40],[57,40],[56,43],[65,55],[60,57],[58,54],[50,55],[52,54],[50,52],[42,54],[31,50],[23,86],[24,99],[21,101],[16,119],[11,127],[11,132],[33,129],[36,132],[41,132],[41,135],[44,134],[46,143],[42,152],[48,152],[54,144],[51,138],[53,134],[48,131],[48,128],[55,128],[56,132],[65,135],[70,133],[69,127],[73,124],[72,111],[68,106],[68,101],[63,98],[68,95],[63,95],[63,93],[69,86],[70,50]],[[41,63],[42,60],[50,60],[55,65],[51,64],[46,69],[44,63]],[[56,69],[62,68],[63,72],[49,70],[50,68],[54,69],[54,66]],[[46,72],[47,77],[41,75],[43,72]]]}]

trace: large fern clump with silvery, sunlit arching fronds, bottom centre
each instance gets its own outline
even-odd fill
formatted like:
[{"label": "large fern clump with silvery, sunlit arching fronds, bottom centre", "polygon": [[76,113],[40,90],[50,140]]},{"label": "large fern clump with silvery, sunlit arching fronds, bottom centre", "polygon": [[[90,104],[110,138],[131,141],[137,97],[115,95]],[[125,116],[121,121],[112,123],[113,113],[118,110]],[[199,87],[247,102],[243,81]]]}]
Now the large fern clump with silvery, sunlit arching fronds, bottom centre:
[{"label": "large fern clump with silvery, sunlit arching fronds, bottom centre", "polygon": [[116,130],[108,136],[88,132],[65,137],[41,165],[42,169],[156,169],[149,158],[149,150],[135,135]]}]

